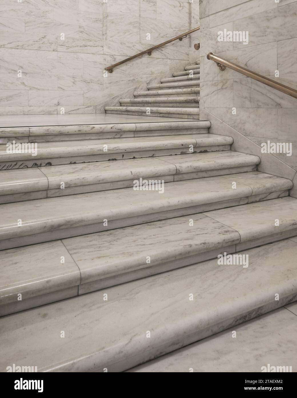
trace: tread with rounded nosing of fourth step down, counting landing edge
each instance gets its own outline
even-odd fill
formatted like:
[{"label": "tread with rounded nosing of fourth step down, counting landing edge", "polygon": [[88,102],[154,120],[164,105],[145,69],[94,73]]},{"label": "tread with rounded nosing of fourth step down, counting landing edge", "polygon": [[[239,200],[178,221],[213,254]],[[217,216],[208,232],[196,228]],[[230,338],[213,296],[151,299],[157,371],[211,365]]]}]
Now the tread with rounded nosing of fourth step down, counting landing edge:
[{"label": "tread with rounded nosing of fourth step down, counting landing edge", "polygon": [[[270,174],[243,174],[165,183],[161,195],[157,190],[123,188],[3,204],[0,240],[282,191],[293,185]],[[237,182],[236,189],[232,188],[233,181]]]}]

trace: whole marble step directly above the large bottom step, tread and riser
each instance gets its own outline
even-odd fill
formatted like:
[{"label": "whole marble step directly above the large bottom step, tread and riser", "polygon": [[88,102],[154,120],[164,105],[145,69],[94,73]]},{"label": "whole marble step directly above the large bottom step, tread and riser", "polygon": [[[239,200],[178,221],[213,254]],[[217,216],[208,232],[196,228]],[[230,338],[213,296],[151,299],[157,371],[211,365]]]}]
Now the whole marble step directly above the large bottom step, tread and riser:
[{"label": "whole marble step directly above the large bottom step, tread and riser", "polygon": [[[41,206],[44,214],[47,214],[46,204]],[[100,202],[97,205],[100,207]],[[14,210],[20,217],[20,212]],[[84,215],[83,206],[78,210]],[[297,199],[291,197],[202,213],[194,211],[197,207],[179,213],[179,216],[186,213],[181,217],[174,217],[175,213],[171,212],[173,218],[163,221],[154,221],[151,214],[143,224],[142,217],[135,217],[132,222],[120,219],[112,226],[108,222],[107,228],[116,229],[97,228],[102,232],[84,234],[87,230],[81,228],[76,232],[80,236],[1,251],[0,315],[297,235]],[[66,216],[64,222],[67,223]],[[32,219],[32,211],[29,217]],[[157,217],[162,219],[164,215],[158,213]],[[39,222],[42,224],[43,220]],[[137,225],[126,226],[133,222]],[[57,239],[58,235],[58,229],[54,230],[51,239]],[[32,244],[36,240],[38,236],[34,240],[26,236],[23,243]]]}]

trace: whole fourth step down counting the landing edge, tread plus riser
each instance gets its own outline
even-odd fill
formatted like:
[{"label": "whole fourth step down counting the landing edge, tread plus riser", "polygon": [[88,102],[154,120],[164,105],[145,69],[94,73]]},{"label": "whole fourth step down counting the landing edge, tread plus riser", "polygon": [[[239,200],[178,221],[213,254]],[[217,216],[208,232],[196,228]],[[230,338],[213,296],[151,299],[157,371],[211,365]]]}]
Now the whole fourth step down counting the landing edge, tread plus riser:
[{"label": "whole fourth step down counting the landing edge, tread plus riser", "polygon": [[0,250],[274,199],[292,186],[246,172],[2,204]]}]

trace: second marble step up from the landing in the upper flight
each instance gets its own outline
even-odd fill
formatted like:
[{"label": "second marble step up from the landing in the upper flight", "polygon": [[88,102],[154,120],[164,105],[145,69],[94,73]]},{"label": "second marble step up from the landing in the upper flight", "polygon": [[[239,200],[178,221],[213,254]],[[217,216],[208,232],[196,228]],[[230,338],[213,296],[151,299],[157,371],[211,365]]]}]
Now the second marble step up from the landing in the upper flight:
[{"label": "second marble step up from the landing in the upper flight", "polygon": [[125,98],[119,100],[122,106],[153,106],[153,107],[163,107],[173,106],[173,107],[199,107],[200,97],[165,97],[165,98]]}]

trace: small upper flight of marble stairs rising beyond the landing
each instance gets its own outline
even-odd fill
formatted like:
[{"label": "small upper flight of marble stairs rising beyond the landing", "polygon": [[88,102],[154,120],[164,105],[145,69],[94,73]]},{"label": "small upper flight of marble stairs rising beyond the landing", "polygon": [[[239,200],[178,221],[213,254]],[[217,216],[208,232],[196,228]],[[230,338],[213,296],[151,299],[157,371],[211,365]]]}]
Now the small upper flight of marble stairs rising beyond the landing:
[{"label": "small upper flight of marble stairs rising beyond the landing", "polygon": [[120,106],[105,106],[106,113],[199,119],[200,61],[189,65],[148,91],[134,92],[134,98],[119,100]]}]

